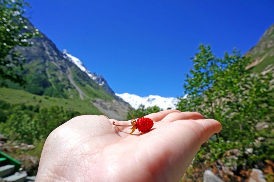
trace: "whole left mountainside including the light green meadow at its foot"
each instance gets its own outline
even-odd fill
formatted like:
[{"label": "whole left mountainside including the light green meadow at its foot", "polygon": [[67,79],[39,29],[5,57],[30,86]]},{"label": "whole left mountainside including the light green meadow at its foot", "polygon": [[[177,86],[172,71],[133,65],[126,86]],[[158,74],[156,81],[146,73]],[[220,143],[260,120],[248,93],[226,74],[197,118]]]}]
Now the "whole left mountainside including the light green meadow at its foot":
[{"label": "whole left mountainside including the light green meadow at its foot", "polygon": [[[26,24],[29,31],[35,30],[29,21]],[[5,79],[9,90],[0,89],[3,100],[9,103],[39,104],[42,107],[63,106],[81,113],[105,114],[118,120],[126,118],[127,111],[131,108],[128,103],[121,101],[113,91],[110,93],[105,90],[59,51],[46,35],[42,32],[40,35],[29,39],[33,42],[32,46],[16,47],[25,61],[23,69],[15,71],[26,84],[20,85]],[[37,100],[29,99],[34,97]],[[38,103],[39,100],[42,103]],[[97,107],[93,105],[95,102]],[[107,109],[105,105],[108,106]]]}]

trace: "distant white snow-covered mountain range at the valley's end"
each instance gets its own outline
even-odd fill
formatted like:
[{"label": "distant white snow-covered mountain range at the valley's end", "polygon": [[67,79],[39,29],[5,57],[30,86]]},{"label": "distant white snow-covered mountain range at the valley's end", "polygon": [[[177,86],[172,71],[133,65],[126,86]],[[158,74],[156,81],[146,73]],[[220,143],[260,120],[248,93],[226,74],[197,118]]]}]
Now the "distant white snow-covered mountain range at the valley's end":
[{"label": "distant white snow-covered mountain range at the valley's end", "polygon": [[176,104],[179,102],[179,99],[175,97],[161,97],[149,95],[147,97],[140,97],[135,94],[129,93],[115,93],[116,96],[121,97],[125,102],[129,103],[134,109],[137,109],[141,104],[145,106],[145,108],[149,106],[158,106],[161,109],[165,110],[167,108],[176,108]]}]

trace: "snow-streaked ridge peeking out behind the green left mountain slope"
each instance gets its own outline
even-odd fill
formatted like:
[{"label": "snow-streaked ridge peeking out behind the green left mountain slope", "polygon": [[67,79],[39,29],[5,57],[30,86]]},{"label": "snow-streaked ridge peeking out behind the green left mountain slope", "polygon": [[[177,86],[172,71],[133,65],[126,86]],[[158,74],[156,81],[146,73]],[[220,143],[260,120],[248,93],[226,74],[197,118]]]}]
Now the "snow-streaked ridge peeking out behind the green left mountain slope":
[{"label": "snow-streaked ridge peeking out behind the green left mountain slope", "polygon": [[86,74],[93,79],[96,83],[98,83],[100,86],[102,86],[107,92],[111,93],[112,95],[115,95],[113,90],[110,88],[110,86],[107,84],[107,81],[104,79],[103,76],[97,75],[96,73],[91,73],[90,70],[86,68],[86,66],[83,64],[83,62],[76,58],[75,56],[72,56],[66,49],[63,50],[63,56],[64,58],[70,60],[73,62],[78,68],[80,68],[83,72],[86,72]]}]

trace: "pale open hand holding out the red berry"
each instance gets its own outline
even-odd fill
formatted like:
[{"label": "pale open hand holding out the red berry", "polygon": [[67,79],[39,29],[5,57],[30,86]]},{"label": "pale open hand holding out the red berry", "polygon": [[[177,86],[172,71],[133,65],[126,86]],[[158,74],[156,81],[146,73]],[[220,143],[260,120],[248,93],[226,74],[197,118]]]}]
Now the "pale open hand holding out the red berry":
[{"label": "pale open hand holding out the red berry", "polygon": [[196,112],[164,110],[149,117],[146,133],[129,121],[106,116],[75,117],[47,138],[37,181],[179,181],[202,143],[221,124]]}]

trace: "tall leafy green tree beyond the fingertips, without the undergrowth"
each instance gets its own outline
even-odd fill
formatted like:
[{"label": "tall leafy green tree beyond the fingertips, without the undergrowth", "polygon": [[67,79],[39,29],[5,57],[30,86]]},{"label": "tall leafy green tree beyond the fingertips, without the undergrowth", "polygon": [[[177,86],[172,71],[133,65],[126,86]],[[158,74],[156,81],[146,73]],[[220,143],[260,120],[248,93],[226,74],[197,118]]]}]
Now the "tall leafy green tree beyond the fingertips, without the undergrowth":
[{"label": "tall leafy green tree beyond the fingertips, without the undergrowth", "polygon": [[181,98],[178,109],[198,111],[219,120],[223,125],[220,136],[225,140],[241,141],[248,134],[248,140],[253,141],[258,133],[255,125],[271,121],[271,74],[246,70],[251,59],[236,49],[219,59],[209,45],[200,45],[192,61],[191,75],[186,75],[184,84],[188,95]]}]

